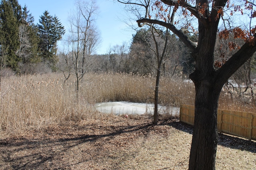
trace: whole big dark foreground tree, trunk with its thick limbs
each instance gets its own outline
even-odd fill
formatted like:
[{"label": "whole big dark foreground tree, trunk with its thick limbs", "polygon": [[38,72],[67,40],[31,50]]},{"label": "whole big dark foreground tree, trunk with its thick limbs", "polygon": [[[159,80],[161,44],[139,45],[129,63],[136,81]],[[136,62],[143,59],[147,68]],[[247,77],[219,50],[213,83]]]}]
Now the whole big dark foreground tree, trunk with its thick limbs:
[{"label": "whole big dark foreground tree, trunk with its thick limbs", "polygon": [[[186,5],[187,1],[161,0],[167,5]],[[198,0],[196,4],[214,3],[215,7],[224,7],[227,0]],[[190,12],[194,12],[190,10]],[[202,13],[201,13],[202,14]],[[250,42],[246,42],[232,57],[218,70],[214,70],[214,46],[220,13],[218,10],[205,8],[201,15],[194,13],[198,18],[198,45],[195,47],[188,38],[178,30],[173,24],[143,18],[137,20],[141,23],[159,24],[169,28],[176,34],[187,47],[193,52],[196,60],[196,69],[190,75],[196,89],[195,98],[195,121],[190,150],[189,170],[215,170],[216,150],[217,150],[217,108],[218,98],[224,83],[234,72],[241,67],[256,51],[256,36]]]}]

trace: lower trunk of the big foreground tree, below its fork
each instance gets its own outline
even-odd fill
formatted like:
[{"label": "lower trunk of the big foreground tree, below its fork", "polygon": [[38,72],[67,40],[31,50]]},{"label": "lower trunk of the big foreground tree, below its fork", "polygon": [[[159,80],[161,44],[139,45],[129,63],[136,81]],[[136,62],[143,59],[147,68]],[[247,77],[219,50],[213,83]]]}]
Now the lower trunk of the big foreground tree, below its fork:
[{"label": "lower trunk of the big foreground tree, below its fork", "polygon": [[196,83],[195,121],[189,170],[214,170],[217,150],[217,108],[220,91],[208,81]]}]

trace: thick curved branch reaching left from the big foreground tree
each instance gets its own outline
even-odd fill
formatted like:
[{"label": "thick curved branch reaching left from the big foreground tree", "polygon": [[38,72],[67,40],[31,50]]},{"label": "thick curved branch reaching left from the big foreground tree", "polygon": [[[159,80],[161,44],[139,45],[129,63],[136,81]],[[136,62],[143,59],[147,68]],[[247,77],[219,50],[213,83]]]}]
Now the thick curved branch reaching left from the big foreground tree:
[{"label": "thick curved branch reaching left from the big foreground tree", "polygon": [[142,27],[144,24],[141,23],[150,23],[150,24],[158,24],[160,26],[164,26],[166,28],[168,28],[169,30],[171,30],[174,34],[176,34],[180,40],[191,50],[196,49],[197,45],[195,42],[192,42],[191,40],[188,39],[188,37],[181,31],[178,30],[174,25],[170,24],[170,23],[166,23],[163,21],[159,21],[159,20],[151,20],[148,18],[143,18],[140,20],[136,21],[138,23],[139,27]]}]

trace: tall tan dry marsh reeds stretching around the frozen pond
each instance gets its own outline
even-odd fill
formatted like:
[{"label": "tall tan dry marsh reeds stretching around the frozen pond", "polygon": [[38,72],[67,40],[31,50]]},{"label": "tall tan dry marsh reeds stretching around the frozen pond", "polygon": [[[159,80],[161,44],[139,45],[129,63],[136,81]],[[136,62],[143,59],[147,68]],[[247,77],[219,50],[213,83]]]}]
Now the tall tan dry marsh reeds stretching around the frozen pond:
[{"label": "tall tan dry marsh reeds stretching around the frozen pond", "polygon": [[[101,119],[93,105],[107,101],[153,103],[152,75],[88,73],[76,103],[75,77],[64,83],[62,74],[22,75],[2,78],[0,91],[0,133],[22,133],[66,120]],[[193,105],[194,85],[181,77],[160,79],[159,104],[179,107]],[[239,106],[239,107],[237,107]],[[253,111],[254,107],[221,95],[220,107]],[[168,115],[168,111],[166,112]]]}]

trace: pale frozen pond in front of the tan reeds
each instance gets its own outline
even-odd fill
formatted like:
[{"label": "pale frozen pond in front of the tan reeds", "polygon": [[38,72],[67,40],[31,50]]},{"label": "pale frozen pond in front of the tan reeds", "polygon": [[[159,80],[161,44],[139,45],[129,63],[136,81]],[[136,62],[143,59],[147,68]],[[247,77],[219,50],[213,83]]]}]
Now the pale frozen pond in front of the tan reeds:
[{"label": "pale frozen pond in front of the tan reeds", "polygon": [[[154,114],[154,104],[148,103],[132,103],[127,101],[116,101],[116,102],[105,102],[105,103],[96,103],[95,108],[102,113],[113,113],[116,115],[124,114],[137,114],[142,115]],[[158,105],[158,113],[164,114],[169,113],[172,115],[179,115],[179,107],[164,107]]]}]

